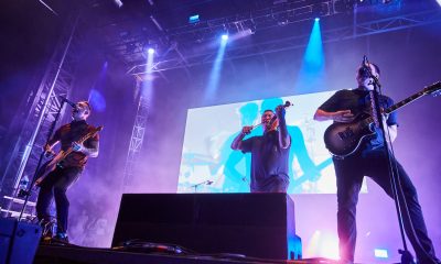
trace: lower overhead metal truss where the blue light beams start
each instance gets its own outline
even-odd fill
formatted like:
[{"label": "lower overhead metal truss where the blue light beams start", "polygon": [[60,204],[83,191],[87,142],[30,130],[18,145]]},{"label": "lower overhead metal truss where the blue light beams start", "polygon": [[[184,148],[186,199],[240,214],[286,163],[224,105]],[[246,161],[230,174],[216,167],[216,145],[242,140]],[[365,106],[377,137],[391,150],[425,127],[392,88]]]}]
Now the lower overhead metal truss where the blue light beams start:
[{"label": "lower overhead metal truss where the blue light beams start", "polygon": [[[323,31],[322,40],[323,43],[337,42],[439,22],[441,22],[441,11],[429,10],[424,12],[408,13],[369,22],[354,23],[349,26]],[[304,47],[308,43],[309,36],[309,34],[303,34],[278,38],[275,41],[254,45],[236,46],[227,50],[224,59],[237,59]],[[215,55],[216,54],[213,51],[187,56],[185,56],[184,54],[183,56],[176,56],[171,59],[159,61],[154,63],[151,72],[160,73],[170,69],[187,68],[202,64],[213,63]],[[136,65],[128,72],[128,74],[137,76],[141,79],[146,73],[146,64]]]}]

